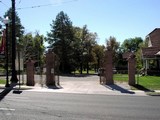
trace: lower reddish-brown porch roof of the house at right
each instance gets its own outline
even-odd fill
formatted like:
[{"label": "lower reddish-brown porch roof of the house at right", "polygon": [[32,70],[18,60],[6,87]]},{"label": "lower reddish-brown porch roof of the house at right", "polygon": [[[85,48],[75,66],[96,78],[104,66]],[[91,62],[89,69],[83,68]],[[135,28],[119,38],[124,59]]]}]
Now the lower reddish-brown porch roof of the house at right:
[{"label": "lower reddish-brown porch roof of the house at right", "polygon": [[143,58],[154,58],[160,56],[160,47],[142,48]]}]

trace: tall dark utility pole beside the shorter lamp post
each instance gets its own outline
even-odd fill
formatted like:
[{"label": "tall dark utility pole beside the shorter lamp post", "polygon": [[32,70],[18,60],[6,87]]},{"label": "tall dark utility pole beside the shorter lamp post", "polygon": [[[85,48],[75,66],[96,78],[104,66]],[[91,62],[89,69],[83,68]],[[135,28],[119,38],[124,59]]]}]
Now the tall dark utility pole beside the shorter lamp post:
[{"label": "tall dark utility pole beside the shorter lamp post", "polygon": [[11,82],[17,83],[17,72],[15,69],[15,59],[16,59],[16,32],[15,32],[15,0],[11,0],[12,2],[12,77]]}]

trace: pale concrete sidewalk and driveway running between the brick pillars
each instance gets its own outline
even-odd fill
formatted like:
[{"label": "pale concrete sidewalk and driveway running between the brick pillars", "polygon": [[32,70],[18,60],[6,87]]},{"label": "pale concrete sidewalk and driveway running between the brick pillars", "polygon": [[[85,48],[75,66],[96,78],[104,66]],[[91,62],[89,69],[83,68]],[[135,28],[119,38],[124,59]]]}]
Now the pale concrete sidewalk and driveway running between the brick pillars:
[{"label": "pale concrete sidewalk and driveway running between the brick pillars", "polygon": [[[131,90],[127,83],[115,83],[114,85],[100,85],[99,77],[96,75],[90,76],[60,76],[60,86],[48,87],[45,86],[45,77],[39,79],[35,77],[35,86],[20,87],[24,91],[34,92],[56,92],[56,93],[79,93],[79,94],[105,94],[105,95],[142,95],[146,96],[144,91]],[[0,86],[3,88],[4,85]],[[18,89],[18,85],[16,89]],[[0,89],[1,92],[2,89]]]}]

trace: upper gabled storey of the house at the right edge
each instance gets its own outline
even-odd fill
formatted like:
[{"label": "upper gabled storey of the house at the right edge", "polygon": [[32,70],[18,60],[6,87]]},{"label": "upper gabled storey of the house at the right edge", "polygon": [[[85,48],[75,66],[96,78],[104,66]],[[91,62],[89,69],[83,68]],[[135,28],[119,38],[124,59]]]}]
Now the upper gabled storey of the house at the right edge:
[{"label": "upper gabled storey of the house at the right edge", "polygon": [[154,29],[147,37],[149,37],[152,47],[160,47],[160,28]]}]

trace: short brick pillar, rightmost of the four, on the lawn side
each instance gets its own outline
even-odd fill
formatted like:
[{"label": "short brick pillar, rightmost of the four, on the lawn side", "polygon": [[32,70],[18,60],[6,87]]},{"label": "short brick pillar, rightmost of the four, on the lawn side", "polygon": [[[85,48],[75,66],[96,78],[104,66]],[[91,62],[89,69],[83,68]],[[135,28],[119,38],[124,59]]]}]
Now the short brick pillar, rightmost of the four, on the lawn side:
[{"label": "short brick pillar, rightmost of the four, on the lawn side", "polygon": [[135,85],[135,73],[136,73],[136,68],[135,68],[135,55],[132,54],[128,58],[128,77],[129,85]]}]

